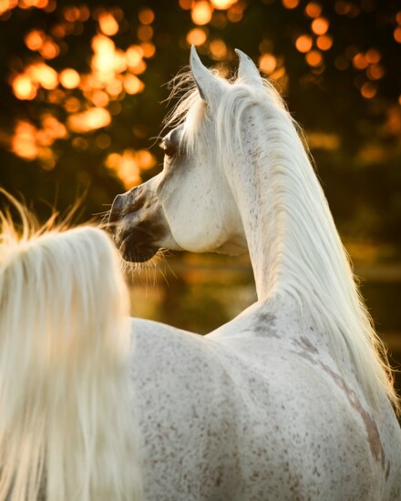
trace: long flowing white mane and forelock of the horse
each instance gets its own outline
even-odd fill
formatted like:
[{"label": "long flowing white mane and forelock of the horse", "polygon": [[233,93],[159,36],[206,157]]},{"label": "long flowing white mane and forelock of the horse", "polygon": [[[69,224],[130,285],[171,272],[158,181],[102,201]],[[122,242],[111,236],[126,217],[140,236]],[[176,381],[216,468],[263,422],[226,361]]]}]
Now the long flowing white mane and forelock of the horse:
[{"label": "long flowing white mane and forelock of the horse", "polygon": [[276,219],[275,234],[266,232],[264,242],[272,258],[263,277],[265,288],[271,294],[290,293],[312,315],[319,331],[329,336],[340,367],[340,353],[346,347],[356,377],[375,408],[380,406],[384,390],[399,412],[386,349],[358,291],[302,131],[282,97],[264,79],[262,85],[254,86],[241,78],[231,83],[220,78],[224,91],[211,116],[197,88],[188,87],[189,78],[184,74],[174,80],[173,94],[182,92],[182,87],[184,94],[166,121],[167,127],[183,124],[180,139],[187,154],[200,155],[197,148],[198,142],[202,143],[198,138],[201,128],[214,128],[217,155],[226,178],[230,178],[239,151],[242,159],[246,153],[249,157],[240,169],[261,167],[252,165],[251,152],[242,150],[250,132],[247,118],[252,116],[260,132],[259,175],[269,182],[261,210],[266,210],[265,218],[273,210]]}]

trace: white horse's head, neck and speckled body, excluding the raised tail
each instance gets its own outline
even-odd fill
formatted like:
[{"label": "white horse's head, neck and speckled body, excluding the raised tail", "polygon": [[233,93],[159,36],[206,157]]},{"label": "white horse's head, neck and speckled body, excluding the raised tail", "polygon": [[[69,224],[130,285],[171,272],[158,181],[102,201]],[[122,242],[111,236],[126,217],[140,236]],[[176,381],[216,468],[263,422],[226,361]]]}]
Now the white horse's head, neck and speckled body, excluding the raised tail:
[{"label": "white horse's head, neck and speckled body, excluding the raised tail", "polygon": [[[135,321],[150,500],[401,499],[391,369],[308,151],[237,51],[231,83],[192,47],[163,171],[110,212],[127,261],[249,250],[258,301],[204,338]],[[184,77],[188,81],[188,77]]]}]

